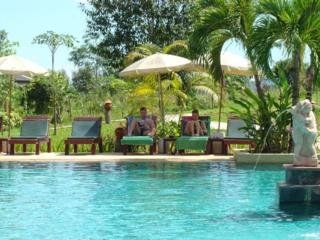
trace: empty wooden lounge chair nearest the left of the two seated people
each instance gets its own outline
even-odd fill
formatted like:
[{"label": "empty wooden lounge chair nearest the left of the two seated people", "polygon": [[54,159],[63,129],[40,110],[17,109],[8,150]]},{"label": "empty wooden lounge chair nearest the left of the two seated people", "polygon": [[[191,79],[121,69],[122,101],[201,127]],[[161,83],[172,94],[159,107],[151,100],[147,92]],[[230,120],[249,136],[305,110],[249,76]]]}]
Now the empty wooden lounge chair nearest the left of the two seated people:
[{"label": "empty wooden lounge chair nearest the left of the two seated people", "polygon": [[91,154],[96,154],[96,144],[102,152],[101,117],[77,117],[72,123],[71,136],[64,141],[65,155],[69,155],[70,144],[74,153],[78,152],[78,144],[91,144]]}]

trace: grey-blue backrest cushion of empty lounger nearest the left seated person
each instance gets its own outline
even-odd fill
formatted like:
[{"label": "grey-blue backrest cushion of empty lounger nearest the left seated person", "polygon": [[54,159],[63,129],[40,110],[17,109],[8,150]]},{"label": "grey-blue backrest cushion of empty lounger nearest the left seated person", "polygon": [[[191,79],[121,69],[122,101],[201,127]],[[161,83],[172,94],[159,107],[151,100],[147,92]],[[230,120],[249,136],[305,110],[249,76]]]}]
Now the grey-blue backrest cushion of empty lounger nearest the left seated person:
[{"label": "grey-blue backrest cushion of empty lounger nearest the left seated person", "polygon": [[96,138],[100,136],[101,121],[73,121],[71,138]]}]

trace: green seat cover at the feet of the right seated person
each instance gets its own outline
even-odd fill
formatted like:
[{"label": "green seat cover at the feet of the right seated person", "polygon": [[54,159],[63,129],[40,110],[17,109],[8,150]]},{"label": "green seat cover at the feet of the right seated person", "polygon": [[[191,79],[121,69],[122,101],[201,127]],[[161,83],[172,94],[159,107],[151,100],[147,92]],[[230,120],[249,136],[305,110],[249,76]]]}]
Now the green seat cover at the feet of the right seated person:
[{"label": "green seat cover at the feet of the right seated person", "polygon": [[208,136],[181,136],[176,141],[176,149],[205,151],[207,142]]}]

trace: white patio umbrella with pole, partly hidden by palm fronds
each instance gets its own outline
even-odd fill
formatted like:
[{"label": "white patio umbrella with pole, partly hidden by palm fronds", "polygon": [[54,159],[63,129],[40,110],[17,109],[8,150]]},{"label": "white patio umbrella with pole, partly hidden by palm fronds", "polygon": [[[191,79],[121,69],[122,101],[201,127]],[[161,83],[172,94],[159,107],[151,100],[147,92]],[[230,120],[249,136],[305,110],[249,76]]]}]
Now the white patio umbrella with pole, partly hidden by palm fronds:
[{"label": "white patio umbrella with pole, partly hidden by palm fronds", "polygon": [[220,132],[220,125],[221,125],[220,123],[221,123],[224,75],[230,74],[230,75],[252,76],[254,74],[248,59],[232,54],[230,52],[224,52],[221,54],[220,64],[222,68],[222,77],[220,82],[218,132]]}]

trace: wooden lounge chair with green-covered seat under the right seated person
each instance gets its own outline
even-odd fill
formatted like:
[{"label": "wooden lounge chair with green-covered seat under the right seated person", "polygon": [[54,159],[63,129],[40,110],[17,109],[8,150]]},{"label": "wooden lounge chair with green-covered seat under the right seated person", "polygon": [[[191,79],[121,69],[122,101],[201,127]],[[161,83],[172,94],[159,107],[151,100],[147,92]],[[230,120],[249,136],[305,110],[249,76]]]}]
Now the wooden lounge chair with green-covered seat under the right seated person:
[{"label": "wooden lounge chair with green-covered seat under the right seated person", "polygon": [[199,119],[203,121],[207,128],[206,136],[186,136],[184,129],[188,121],[192,120],[191,116],[184,116],[181,120],[181,136],[176,141],[176,149],[182,154],[185,150],[198,150],[208,153],[208,138],[210,136],[210,117],[200,116]]}]

